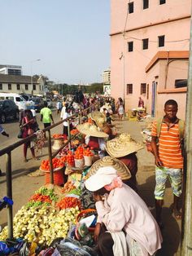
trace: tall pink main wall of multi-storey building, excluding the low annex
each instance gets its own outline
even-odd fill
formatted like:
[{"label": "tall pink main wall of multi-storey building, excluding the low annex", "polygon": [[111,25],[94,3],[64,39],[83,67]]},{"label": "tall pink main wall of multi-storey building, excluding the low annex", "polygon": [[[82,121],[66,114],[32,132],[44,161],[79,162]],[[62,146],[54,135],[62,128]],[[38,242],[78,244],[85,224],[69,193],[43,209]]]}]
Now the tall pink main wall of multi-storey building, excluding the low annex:
[{"label": "tall pink main wall of multi-storey building, excluding the low annex", "polygon": [[[137,107],[141,83],[146,83],[145,68],[153,56],[158,51],[187,51],[190,38],[191,1],[167,0],[159,5],[158,0],[153,0],[146,10],[142,10],[142,0],[133,2],[134,12],[127,16],[128,2],[111,0],[111,96],[125,99],[126,110]],[[165,35],[164,47],[158,46],[161,35]],[[144,38],[149,38],[147,50],[142,50]],[[131,41],[133,52],[128,52],[127,43]],[[126,94],[127,84],[133,84],[133,95]],[[146,95],[141,96],[146,102]]]}]

